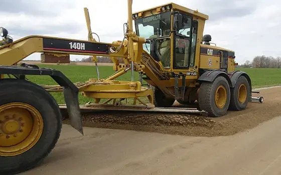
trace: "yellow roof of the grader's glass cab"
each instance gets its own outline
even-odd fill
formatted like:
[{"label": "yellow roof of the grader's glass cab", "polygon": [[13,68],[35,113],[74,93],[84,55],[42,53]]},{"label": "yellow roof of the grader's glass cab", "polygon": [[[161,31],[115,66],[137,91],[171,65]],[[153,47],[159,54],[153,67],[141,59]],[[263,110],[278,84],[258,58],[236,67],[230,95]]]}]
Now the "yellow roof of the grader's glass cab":
[{"label": "yellow roof of the grader's glass cab", "polygon": [[148,9],[145,9],[145,10],[142,10],[142,11],[133,12],[133,14],[137,14],[137,13],[145,12],[145,11],[149,11],[149,10],[154,10],[154,9],[161,8],[161,7],[167,6],[167,5],[169,5],[170,8],[173,9],[174,11],[186,12],[186,13],[189,13],[193,16],[197,16],[197,17],[200,17],[200,18],[205,19],[205,20],[209,19],[209,16],[207,14],[201,13],[198,10],[193,10],[193,9],[184,7],[182,5],[178,5],[178,4],[173,3],[173,2],[166,3],[166,4],[163,4],[163,5],[159,5],[159,6],[155,6],[155,7],[152,7],[152,8],[148,8]]}]

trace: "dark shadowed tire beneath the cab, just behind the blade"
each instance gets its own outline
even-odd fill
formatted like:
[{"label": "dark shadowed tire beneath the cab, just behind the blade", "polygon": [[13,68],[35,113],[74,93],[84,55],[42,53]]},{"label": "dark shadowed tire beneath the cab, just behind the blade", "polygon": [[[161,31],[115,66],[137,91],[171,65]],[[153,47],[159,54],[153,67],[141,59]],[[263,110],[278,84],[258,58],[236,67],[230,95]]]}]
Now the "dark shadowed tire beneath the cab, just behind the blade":
[{"label": "dark shadowed tire beneath the cab, just behind the blade", "polygon": [[167,98],[165,94],[157,87],[153,87],[153,98],[154,98],[154,105],[156,107],[171,107],[175,99]]}]

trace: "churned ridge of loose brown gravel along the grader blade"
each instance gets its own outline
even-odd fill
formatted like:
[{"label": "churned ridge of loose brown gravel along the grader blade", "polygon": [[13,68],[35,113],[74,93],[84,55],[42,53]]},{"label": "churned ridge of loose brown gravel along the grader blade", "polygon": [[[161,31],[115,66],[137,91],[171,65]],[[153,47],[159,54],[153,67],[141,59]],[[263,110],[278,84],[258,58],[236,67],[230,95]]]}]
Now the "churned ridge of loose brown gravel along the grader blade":
[{"label": "churned ridge of loose brown gravel along the grader blade", "polygon": [[[95,112],[83,116],[88,127],[128,129],[191,136],[232,135],[257,126],[281,114],[281,87],[261,89],[263,103],[248,103],[242,111],[229,111],[222,117],[145,112]],[[181,106],[179,103],[174,105]],[[64,123],[69,123],[68,119]]]}]

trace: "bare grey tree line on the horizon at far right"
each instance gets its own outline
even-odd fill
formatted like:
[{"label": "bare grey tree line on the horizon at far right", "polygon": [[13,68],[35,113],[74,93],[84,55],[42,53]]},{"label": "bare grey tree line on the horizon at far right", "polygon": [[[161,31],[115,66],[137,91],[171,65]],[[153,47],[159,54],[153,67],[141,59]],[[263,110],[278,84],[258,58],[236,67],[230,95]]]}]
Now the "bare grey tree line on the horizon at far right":
[{"label": "bare grey tree line on the horizon at far right", "polygon": [[281,68],[281,57],[255,56],[252,61],[246,60],[244,64],[237,65],[237,68]]}]

